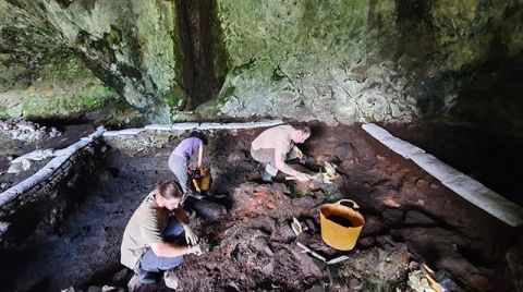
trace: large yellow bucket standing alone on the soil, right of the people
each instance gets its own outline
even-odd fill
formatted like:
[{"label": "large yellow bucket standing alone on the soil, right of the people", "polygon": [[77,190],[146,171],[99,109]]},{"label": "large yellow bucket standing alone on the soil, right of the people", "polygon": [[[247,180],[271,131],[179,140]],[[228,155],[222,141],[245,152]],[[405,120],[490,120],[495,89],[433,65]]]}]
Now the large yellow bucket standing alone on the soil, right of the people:
[{"label": "large yellow bucket standing alone on the soil, right of the people", "polygon": [[[353,207],[342,205],[350,202]],[[324,204],[319,211],[321,239],[329,246],[340,251],[351,251],[365,224],[363,216],[354,210],[357,204],[352,199],[341,199],[335,204]]]}]

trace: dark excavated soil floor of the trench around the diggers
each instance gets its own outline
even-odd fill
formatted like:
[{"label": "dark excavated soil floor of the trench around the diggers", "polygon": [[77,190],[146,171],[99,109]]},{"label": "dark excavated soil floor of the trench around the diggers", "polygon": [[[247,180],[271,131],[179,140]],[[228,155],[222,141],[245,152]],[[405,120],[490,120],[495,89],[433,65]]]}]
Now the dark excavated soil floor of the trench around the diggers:
[{"label": "dark excavated soil floor of the trench around the diggers", "polygon": [[[303,146],[316,165],[339,166],[341,177],[332,184],[283,177],[262,184],[262,169],[248,151],[260,131],[209,132],[204,163],[210,166],[214,183],[205,199],[226,211],[198,211],[193,219],[208,252],[186,256],[177,268],[180,290],[403,291],[417,263],[447,270],[467,291],[513,289],[506,254],[518,248],[519,230],[460,198],[360,125],[316,123]],[[19,233],[13,231],[4,242],[2,260],[9,261],[3,265],[9,273],[2,275],[9,289],[125,288],[132,273],[119,264],[123,230],[155,183],[172,178],[167,158],[180,139],[160,132],[106,137],[80,156],[85,167],[71,170],[74,181],[65,177],[72,182],[44,190],[44,198],[29,204],[35,209],[56,209],[60,216],[44,216],[47,223],[20,223]],[[342,198],[357,202],[366,220],[356,247],[348,253],[328,247],[319,235],[319,206]],[[70,202],[62,208],[38,207],[57,199]],[[308,226],[297,239],[292,217]],[[326,265],[302,253],[297,242],[327,258],[346,254],[349,259]],[[167,290],[163,282],[142,288],[158,290]]]}]

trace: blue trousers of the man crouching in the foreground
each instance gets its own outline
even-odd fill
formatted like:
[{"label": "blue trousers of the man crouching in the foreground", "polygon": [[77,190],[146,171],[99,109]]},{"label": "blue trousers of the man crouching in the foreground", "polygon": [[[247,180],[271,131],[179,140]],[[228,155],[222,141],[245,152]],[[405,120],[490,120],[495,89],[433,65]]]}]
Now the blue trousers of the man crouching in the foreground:
[{"label": "blue trousers of the man crouching in the foreground", "polygon": [[[181,234],[183,233],[183,227],[178,222],[174,217],[169,219],[166,230],[161,233],[165,241],[172,243],[180,243],[183,240]],[[180,266],[183,261],[183,256],[177,257],[162,257],[157,256],[153,250],[147,248],[144,256],[139,260],[139,268],[146,271],[159,272]]]}]

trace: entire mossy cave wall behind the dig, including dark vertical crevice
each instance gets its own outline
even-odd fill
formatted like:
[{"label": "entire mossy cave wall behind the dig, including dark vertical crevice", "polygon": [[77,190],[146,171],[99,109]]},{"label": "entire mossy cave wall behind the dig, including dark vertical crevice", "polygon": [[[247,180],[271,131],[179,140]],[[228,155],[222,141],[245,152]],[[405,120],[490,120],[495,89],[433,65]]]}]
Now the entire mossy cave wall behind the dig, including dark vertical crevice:
[{"label": "entire mossy cave wall behind the dig, including dark vertical crevice", "polygon": [[[523,133],[520,0],[0,5],[4,93],[54,57],[65,64],[83,60],[93,72],[83,78],[102,82],[86,82],[96,93],[75,88],[105,99],[112,97],[102,89],[108,86],[155,122],[443,119]],[[0,106],[3,115],[12,107]]]}]

